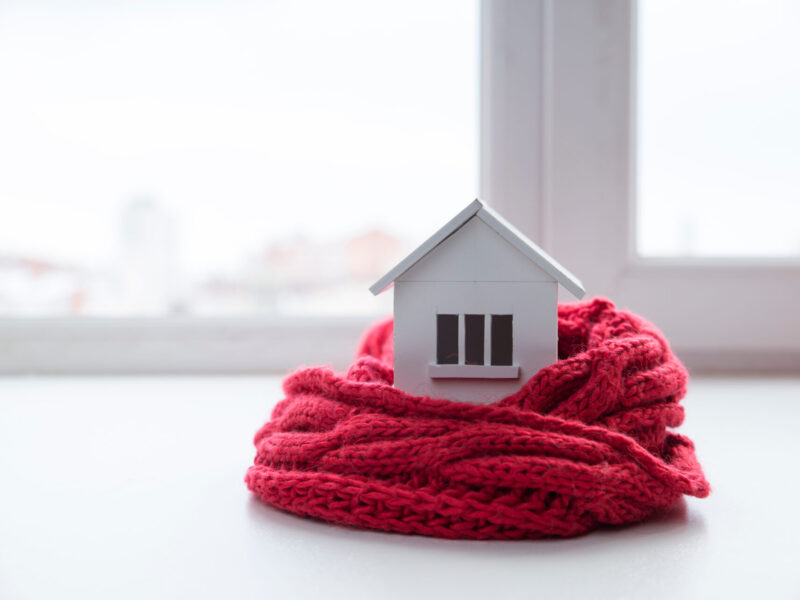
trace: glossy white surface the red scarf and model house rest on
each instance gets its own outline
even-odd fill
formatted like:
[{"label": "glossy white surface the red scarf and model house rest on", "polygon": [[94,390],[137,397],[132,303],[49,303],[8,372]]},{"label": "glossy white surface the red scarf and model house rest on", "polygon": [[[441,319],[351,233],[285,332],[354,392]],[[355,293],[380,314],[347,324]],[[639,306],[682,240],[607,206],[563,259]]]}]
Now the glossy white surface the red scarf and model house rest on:
[{"label": "glossy white surface the red scarf and model house rest on", "polygon": [[278,379],[0,379],[0,598],[798,598],[800,380],[695,380],[713,492],[571,540],[453,542],[251,497]]}]

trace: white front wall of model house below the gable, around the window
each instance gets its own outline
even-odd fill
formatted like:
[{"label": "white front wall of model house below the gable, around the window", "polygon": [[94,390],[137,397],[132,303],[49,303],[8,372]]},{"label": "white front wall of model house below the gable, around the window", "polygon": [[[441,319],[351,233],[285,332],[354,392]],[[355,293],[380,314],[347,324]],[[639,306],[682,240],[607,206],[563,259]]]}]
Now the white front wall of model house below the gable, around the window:
[{"label": "white front wall of model house below the gable, around the window", "polygon": [[[437,270],[442,264],[446,261],[436,263]],[[484,272],[483,276],[491,274]],[[539,369],[557,359],[557,285],[552,280],[397,280],[395,387],[413,395],[466,402],[492,402],[516,392]],[[519,379],[431,379],[428,365],[436,362],[437,313],[513,314],[513,356],[520,366]]]}]

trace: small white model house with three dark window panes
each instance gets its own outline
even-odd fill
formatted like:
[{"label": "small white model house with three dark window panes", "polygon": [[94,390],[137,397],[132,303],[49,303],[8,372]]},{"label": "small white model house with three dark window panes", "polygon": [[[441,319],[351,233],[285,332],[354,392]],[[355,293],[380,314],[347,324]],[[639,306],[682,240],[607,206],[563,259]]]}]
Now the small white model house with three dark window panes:
[{"label": "small white model house with three dark window panes", "polygon": [[493,402],[557,360],[558,284],[581,282],[475,200],[371,288],[394,283],[394,385]]}]

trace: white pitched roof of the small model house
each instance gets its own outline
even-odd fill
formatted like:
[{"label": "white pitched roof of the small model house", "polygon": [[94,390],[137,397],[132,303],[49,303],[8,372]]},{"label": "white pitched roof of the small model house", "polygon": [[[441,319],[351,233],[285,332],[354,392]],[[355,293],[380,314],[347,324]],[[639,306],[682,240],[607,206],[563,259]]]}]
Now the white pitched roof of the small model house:
[{"label": "white pitched roof of the small model house", "polygon": [[416,250],[401,260],[395,267],[376,281],[369,290],[376,296],[388,288],[398,277],[408,271],[426,254],[458,231],[470,219],[476,217],[497,232],[509,244],[522,252],[540,269],[564,286],[577,298],[586,293],[583,284],[572,273],[562,267],[553,257],[529,240],[511,223],[498,215],[480,200],[474,200],[464,210],[450,219],[439,231],[425,240]]}]

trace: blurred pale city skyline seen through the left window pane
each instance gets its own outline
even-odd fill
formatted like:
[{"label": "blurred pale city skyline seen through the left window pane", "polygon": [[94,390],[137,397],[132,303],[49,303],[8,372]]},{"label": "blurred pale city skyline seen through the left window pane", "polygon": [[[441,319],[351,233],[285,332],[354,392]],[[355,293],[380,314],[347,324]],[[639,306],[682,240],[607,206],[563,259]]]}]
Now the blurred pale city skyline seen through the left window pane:
[{"label": "blurred pale city skyline seen through the left window pane", "polygon": [[324,241],[295,234],[193,279],[177,254],[179,229],[155,200],[128,203],[117,230],[117,251],[96,268],[0,255],[0,315],[378,314],[391,296],[367,288],[410,250],[379,229]]}]

